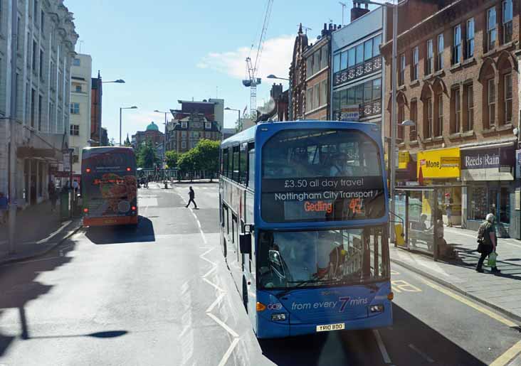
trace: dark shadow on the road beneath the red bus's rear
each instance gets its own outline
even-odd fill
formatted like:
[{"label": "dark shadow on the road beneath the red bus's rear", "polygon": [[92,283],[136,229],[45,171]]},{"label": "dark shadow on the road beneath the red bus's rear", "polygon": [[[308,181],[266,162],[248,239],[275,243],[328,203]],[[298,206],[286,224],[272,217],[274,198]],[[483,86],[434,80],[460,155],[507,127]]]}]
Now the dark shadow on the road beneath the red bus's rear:
[{"label": "dark shadow on the road beneath the red bus's rear", "polygon": [[140,216],[137,227],[101,226],[88,227],[85,236],[94,244],[122,244],[154,242],[154,225],[147,217]]}]

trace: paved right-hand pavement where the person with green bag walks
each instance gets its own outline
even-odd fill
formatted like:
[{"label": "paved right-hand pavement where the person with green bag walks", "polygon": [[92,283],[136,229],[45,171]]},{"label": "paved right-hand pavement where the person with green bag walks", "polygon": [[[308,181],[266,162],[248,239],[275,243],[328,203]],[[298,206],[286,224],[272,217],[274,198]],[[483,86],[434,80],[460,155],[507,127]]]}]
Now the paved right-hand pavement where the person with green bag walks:
[{"label": "paved right-hand pavement where the person with green bag walks", "polygon": [[492,274],[488,267],[483,267],[485,273],[475,271],[480,257],[475,231],[445,227],[444,238],[458,259],[434,262],[427,255],[391,246],[391,261],[521,321],[521,241],[498,239],[501,273]]}]

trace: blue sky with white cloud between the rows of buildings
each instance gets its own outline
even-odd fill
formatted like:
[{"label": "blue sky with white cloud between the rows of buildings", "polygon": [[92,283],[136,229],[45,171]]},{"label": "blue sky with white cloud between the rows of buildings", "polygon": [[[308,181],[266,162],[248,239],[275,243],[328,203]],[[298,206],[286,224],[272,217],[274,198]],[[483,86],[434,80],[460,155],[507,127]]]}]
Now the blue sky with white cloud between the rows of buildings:
[{"label": "blue sky with white cloud between the rows of buildings", "polygon": [[[347,22],[352,1],[344,2]],[[218,96],[226,107],[249,109],[250,92],[241,83],[246,76],[244,58],[251,44],[258,43],[265,0],[65,0],[64,4],[73,12],[80,35],[76,52],[92,56],[93,75],[100,70],[103,80],[126,81],[103,86],[102,123],[116,142],[120,107],[138,107],[123,111],[123,139],[151,121],[162,123],[164,114],[154,109],[177,109],[178,99]],[[266,75],[288,77],[298,24],[312,28],[307,33],[312,41],[330,20],[342,23],[337,0],[273,1],[259,69],[263,84],[258,87],[258,105],[269,98],[273,84]],[[225,111],[225,127],[233,127],[236,117],[236,112]]]}]

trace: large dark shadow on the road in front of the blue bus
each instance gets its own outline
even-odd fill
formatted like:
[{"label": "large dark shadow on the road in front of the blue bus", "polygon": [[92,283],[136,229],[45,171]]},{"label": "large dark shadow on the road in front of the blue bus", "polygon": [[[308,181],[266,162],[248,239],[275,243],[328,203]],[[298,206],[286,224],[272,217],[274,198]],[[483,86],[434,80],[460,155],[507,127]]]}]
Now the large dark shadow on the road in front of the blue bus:
[{"label": "large dark shadow on the road in front of the blue bus", "polygon": [[[393,309],[393,327],[379,332],[394,365],[485,365],[411,313],[396,304]],[[259,343],[263,355],[280,366],[385,365],[372,330],[345,330]]]}]

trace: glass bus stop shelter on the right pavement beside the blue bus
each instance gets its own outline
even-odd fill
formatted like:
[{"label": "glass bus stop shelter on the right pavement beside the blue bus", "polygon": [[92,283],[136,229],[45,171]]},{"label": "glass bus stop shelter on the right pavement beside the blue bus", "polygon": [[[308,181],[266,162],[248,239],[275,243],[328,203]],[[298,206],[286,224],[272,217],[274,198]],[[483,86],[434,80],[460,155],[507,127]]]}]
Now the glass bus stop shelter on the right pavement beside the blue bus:
[{"label": "glass bus stop shelter on the right pavement beside the blue bus", "polygon": [[[443,240],[443,196],[452,185],[395,188],[395,246],[433,256],[436,261]],[[461,185],[458,185],[461,187]]]}]

